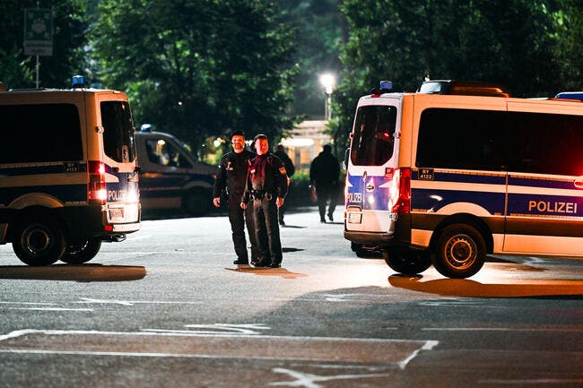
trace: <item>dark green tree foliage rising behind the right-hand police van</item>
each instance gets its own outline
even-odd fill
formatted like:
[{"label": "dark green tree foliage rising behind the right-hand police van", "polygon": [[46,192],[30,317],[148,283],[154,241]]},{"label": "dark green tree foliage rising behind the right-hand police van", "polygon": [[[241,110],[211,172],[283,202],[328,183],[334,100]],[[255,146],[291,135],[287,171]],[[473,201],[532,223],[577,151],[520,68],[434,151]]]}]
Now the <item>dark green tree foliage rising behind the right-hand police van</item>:
[{"label": "dark green tree foliage rising behind the right-hand police van", "polygon": [[[336,139],[347,142],[356,99],[382,79],[401,91],[415,91],[431,77],[499,82],[516,96],[552,95],[562,86],[565,54],[580,48],[575,42],[581,41],[571,34],[572,44],[564,44],[561,56],[559,41],[566,30],[558,22],[561,3],[344,0],[349,41],[342,53],[343,81],[335,92]],[[580,8],[579,19],[570,22],[575,20],[580,22]]]}]

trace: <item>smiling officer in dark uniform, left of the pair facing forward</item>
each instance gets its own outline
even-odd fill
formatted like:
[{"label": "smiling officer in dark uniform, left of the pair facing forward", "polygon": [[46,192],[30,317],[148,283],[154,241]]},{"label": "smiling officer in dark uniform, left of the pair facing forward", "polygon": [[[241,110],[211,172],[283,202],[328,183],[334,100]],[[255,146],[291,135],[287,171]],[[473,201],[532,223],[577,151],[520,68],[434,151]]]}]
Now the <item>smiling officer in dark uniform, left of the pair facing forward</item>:
[{"label": "smiling officer in dark uniform, left of the pair facing forward", "polygon": [[245,224],[251,242],[251,260],[258,256],[257,239],[253,223],[253,212],[251,209],[243,210],[240,207],[241,197],[245,192],[247,183],[247,171],[249,160],[255,158],[255,152],[245,149],[245,134],[242,131],[235,131],[231,135],[233,151],[226,153],[219,164],[216,179],[213,186],[213,203],[215,207],[221,206],[221,194],[227,194],[227,206],[229,208],[229,221],[233,245],[237,260],[234,264],[248,264],[247,241],[245,239]]}]

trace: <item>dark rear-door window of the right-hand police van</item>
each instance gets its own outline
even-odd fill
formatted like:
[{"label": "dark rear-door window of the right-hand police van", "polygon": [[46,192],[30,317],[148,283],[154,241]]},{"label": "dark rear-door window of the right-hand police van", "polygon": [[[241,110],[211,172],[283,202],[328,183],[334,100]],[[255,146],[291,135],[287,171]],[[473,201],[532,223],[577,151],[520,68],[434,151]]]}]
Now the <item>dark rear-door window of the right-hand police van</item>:
[{"label": "dark rear-door window of the right-hand police van", "polygon": [[396,107],[368,106],[356,112],[351,160],[355,166],[381,166],[393,156]]}]

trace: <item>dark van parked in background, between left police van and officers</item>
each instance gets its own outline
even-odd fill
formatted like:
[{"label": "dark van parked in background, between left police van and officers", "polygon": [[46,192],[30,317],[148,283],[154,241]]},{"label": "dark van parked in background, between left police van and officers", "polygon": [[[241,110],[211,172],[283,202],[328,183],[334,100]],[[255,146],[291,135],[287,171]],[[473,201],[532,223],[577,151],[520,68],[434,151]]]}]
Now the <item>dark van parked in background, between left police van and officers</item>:
[{"label": "dark van parked in background, between left police van and officers", "polygon": [[140,198],[144,210],[181,210],[200,216],[213,203],[216,167],[196,161],[171,134],[135,134],[140,165]]}]

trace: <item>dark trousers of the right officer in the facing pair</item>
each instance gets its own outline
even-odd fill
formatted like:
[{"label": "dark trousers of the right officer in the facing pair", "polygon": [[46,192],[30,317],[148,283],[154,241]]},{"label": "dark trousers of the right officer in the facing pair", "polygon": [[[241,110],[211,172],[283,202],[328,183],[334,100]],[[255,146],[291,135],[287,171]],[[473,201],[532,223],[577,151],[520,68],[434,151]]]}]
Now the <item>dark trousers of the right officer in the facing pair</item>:
[{"label": "dark trousers of the right officer in the facing pair", "polygon": [[252,202],[259,257],[265,263],[270,263],[270,258],[271,263],[282,263],[283,258],[275,199],[264,197]]}]

